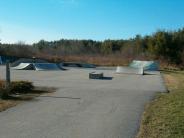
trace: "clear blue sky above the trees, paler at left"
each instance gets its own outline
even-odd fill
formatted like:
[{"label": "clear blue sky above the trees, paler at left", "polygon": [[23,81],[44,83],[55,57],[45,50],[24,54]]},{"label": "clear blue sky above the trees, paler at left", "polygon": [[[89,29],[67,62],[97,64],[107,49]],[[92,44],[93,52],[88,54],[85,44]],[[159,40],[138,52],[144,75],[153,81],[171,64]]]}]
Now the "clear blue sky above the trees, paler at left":
[{"label": "clear blue sky above the trees, paler at left", "polygon": [[1,42],[126,39],[184,27],[184,0],[0,0]]}]

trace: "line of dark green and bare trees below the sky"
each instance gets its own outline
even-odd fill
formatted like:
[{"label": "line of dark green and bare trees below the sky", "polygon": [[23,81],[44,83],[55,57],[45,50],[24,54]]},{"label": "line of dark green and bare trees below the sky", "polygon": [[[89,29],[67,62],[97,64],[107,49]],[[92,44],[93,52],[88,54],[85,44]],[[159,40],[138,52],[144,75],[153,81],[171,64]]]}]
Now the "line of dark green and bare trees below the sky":
[{"label": "line of dark green and bare trees below the sky", "polygon": [[161,60],[169,64],[184,65],[184,28],[177,31],[158,30],[152,35],[136,35],[121,40],[66,40],[45,41],[26,45],[1,44],[0,54],[17,57],[62,59],[63,56],[116,56],[122,59]]}]

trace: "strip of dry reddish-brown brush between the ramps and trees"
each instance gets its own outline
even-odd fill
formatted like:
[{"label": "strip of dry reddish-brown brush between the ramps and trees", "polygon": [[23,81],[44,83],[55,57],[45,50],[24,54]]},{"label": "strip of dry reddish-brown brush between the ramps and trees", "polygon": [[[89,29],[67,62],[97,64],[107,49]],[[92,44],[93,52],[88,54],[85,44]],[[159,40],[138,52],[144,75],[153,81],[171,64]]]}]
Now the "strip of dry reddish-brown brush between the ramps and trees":
[{"label": "strip of dry reddish-brown brush between the ramps and trees", "polygon": [[155,59],[154,57],[146,56],[129,56],[124,54],[111,54],[111,55],[90,55],[90,54],[81,54],[81,55],[62,55],[62,56],[53,56],[53,55],[37,55],[37,58],[45,59],[50,62],[85,62],[90,64],[95,64],[99,66],[125,66],[128,65],[132,60],[157,60],[160,63],[161,69],[169,70],[180,70],[183,66],[169,64],[167,61],[162,59]]}]

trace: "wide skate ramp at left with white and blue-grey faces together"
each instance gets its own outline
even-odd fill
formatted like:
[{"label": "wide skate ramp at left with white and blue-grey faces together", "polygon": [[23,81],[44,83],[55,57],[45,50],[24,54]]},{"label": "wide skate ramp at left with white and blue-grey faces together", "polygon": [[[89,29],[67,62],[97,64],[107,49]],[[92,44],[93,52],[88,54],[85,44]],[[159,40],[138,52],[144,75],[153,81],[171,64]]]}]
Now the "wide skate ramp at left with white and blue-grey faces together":
[{"label": "wide skate ramp at left with white and blue-grey faces together", "polygon": [[37,70],[37,71],[56,71],[61,70],[57,64],[54,63],[20,63],[14,70]]}]

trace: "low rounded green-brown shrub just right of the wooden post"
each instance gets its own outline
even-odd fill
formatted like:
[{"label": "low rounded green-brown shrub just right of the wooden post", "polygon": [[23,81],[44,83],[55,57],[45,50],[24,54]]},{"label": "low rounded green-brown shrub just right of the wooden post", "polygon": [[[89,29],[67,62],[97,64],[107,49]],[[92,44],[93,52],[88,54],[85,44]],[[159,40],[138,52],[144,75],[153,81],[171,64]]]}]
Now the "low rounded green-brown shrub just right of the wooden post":
[{"label": "low rounded green-brown shrub just right of the wooden post", "polygon": [[15,81],[11,83],[11,93],[29,93],[34,88],[32,82]]}]

